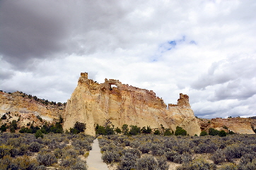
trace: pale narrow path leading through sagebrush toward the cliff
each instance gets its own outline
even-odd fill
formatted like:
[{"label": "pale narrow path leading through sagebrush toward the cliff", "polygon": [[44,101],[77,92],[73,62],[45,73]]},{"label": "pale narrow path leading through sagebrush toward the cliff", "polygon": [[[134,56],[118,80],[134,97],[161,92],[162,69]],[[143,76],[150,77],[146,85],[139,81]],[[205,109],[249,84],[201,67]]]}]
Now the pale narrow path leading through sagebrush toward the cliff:
[{"label": "pale narrow path leading through sagebrush toward the cliff", "polygon": [[109,170],[107,164],[101,159],[100,147],[98,144],[98,139],[93,141],[93,149],[87,158],[88,170]]}]

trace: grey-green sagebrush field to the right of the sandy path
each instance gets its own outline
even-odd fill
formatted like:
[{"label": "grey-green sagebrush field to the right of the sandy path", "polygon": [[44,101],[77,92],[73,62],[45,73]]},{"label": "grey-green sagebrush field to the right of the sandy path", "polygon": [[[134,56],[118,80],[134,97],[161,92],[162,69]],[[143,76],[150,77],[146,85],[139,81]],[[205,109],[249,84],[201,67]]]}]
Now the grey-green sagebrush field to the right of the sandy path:
[{"label": "grey-green sagebrush field to the right of the sandy path", "polygon": [[[125,130],[125,128],[124,128]],[[103,161],[117,169],[256,169],[256,135],[105,135]]]}]

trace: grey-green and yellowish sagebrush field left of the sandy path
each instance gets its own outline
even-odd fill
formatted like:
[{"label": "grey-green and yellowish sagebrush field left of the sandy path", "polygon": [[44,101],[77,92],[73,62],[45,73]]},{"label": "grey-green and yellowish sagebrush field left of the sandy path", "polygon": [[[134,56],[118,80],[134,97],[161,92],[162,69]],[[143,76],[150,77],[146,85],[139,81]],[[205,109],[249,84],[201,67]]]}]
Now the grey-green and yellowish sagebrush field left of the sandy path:
[{"label": "grey-green and yellowish sagebrush field left of the sandy path", "polygon": [[29,133],[1,133],[0,169],[87,169],[85,157],[94,139],[83,133],[49,133],[44,138]]}]

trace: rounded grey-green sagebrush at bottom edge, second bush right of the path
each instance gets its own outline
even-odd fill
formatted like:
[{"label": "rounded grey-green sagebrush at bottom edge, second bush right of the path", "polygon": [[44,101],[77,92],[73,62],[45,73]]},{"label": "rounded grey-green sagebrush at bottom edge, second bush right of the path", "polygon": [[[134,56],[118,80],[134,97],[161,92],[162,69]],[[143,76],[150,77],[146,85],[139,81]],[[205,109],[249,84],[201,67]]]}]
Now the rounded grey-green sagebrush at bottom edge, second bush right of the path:
[{"label": "rounded grey-green sagebrush at bottom edge, second bush right of the path", "polygon": [[158,162],[152,155],[145,155],[136,162],[136,169],[138,170],[151,170],[158,169]]}]

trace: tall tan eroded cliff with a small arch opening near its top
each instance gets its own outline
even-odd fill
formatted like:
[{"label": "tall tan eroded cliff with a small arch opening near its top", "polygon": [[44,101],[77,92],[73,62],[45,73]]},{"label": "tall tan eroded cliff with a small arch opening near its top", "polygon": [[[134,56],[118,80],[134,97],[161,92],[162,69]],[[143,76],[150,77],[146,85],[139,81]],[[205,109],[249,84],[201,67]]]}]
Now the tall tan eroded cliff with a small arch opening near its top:
[{"label": "tall tan eroded cliff with a small arch opening near its top", "polygon": [[79,121],[86,123],[87,134],[94,135],[95,125],[103,126],[109,119],[115,128],[123,124],[161,128],[162,124],[172,130],[181,126],[190,135],[199,135],[199,124],[187,95],[180,94],[178,104],[166,107],[163,99],[156,97],[152,90],[124,85],[113,79],[99,84],[88,79],[87,73],[81,73],[78,86],[66,103],[64,129]]}]

